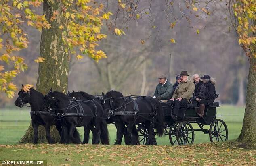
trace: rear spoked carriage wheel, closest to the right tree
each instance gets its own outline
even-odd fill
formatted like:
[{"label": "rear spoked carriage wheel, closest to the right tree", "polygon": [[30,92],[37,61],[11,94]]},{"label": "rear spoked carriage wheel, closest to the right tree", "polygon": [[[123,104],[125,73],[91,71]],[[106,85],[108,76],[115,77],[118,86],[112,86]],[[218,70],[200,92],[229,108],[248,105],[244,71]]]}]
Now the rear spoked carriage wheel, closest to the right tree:
[{"label": "rear spoked carriage wheel, closest to the right tree", "polygon": [[211,142],[227,141],[229,132],[226,123],[221,119],[214,120],[210,125],[209,136]]}]

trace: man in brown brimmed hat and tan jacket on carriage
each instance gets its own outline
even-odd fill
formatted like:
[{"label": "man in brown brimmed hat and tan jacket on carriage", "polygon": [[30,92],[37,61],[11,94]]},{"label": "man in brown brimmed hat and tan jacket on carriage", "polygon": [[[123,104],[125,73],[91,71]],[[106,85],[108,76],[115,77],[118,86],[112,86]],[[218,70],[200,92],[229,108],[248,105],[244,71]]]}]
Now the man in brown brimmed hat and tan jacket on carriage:
[{"label": "man in brown brimmed hat and tan jacket on carriage", "polygon": [[187,107],[189,104],[189,99],[193,96],[193,91],[195,90],[195,84],[193,81],[188,79],[187,71],[182,71],[180,73],[181,83],[175,89],[172,98],[168,100],[170,104],[175,106],[174,113],[177,115],[179,108]]}]

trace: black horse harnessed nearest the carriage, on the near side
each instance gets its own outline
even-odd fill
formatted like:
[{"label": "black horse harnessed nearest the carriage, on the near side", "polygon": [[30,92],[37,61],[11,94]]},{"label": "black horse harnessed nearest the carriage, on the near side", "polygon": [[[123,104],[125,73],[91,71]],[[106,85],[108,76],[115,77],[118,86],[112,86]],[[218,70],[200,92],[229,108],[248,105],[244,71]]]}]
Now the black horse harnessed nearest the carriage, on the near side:
[{"label": "black horse harnessed nearest the carriage, on the near side", "polygon": [[[148,130],[147,145],[156,145],[154,126],[159,136],[164,133],[164,110],[158,100],[152,97],[142,97],[133,100],[130,96],[124,97],[118,91],[109,91],[103,94],[104,108],[112,110],[113,114],[120,116],[122,124],[127,125],[128,135],[132,137],[134,125],[143,124]],[[132,114],[136,112],[136,114]],[[118,139],[118,138],[117,138]],[[133,140],[131,138],[131,140]],[[136,145],[138,142],[132,141]]]}]

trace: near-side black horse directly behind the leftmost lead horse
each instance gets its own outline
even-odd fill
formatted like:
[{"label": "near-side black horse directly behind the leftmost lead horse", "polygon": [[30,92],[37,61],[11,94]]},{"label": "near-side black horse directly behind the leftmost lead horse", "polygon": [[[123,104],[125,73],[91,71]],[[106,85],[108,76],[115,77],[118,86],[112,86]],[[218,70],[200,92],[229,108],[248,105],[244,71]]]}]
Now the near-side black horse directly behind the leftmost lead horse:
[{"label": "near-side black horse directly behind the leftmost lead horse", "polygon": [[[73,132],[76,126],[95,126],[95,137],[92,141],[94,144],[99,144],[100,136],[102,135],[102,144],[109,145],[109,137],[106,121],[103,119],[103,110],[97,111],[97,105],[92,100],[75,101],[73,98],[60,93],[58,91],[49,93],[44,96],[44,103],[46,106],[52,107],[59,115],[63,115],[63,135],[64,142],[69,143],[67,138],[70,138],[74,143],[81,143],[80,140],[73,137]],[[93,132],[93,133],[94,133]]]}]

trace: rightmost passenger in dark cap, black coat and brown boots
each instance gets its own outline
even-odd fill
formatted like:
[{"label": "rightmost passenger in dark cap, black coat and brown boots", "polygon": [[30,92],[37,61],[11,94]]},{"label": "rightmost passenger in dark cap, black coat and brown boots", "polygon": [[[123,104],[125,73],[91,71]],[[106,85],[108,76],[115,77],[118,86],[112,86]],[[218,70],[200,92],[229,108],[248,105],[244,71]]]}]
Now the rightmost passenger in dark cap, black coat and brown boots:
[{"label": "rightmost passenger in dark cap, black coat and brown boots", "polygon": [[197,115],[203,117],[205,107],[213,103],[215,99],[215,80],[213,78],[210,78],[209,75],[204,75],[204,77],[201,77],[201,79],[203,80],[203,83],[195,94],[197,95],[197,98],[195,100],[199,102],[199,109],[197,109]]}]

